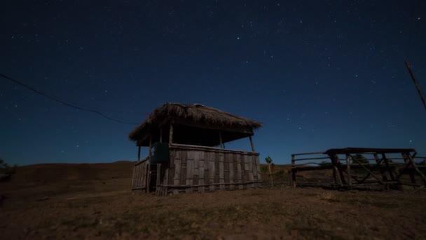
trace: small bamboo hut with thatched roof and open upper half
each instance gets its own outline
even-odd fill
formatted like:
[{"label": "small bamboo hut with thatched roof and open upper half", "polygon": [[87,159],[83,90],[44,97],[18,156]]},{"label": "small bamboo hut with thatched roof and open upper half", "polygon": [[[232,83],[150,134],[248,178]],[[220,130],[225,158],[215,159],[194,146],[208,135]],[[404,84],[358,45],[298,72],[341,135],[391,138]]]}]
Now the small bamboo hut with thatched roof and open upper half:
[{"label": "small bamboo hut with thatched roof and open upper half", "polygon": [[[212,107],[166,103],[129,134],[138,146],[132,189],[176,194],[257,187],[259,153],[252,135],[260,127]],[[241,138],[249,138],[252,152],[225,148]],[[141,147],[149,147],[142,160]]]}]

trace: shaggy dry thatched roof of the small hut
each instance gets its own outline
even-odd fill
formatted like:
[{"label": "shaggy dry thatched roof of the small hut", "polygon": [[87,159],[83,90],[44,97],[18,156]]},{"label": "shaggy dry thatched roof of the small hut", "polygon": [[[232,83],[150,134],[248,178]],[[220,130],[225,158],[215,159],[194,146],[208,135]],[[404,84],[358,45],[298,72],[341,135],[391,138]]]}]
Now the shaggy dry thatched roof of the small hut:
[{"label": "shaggy dry thatched roof of the small hut", "polygon": [[[137,141],[138,145],[146,145],[146,139],[150,134],[155,138],[159,134],[159,128],[167,130],[170,123],[224,132],[244,133],[245,136],[253,135],[253,130],[262,126],[258,121],[223,112],[213,107],[200,104],[165,103],[162,107],[155,109],[144,123],[130,132],[129,138]],[[163,136],[167,137],[167,133],[163,133]],[[229,135],[228,138],[225,136],[226,140],[242,137],[243,135],[237,137],[235,134],[232,137]],[[212,144],[214,143],[211,142],[210,145]]]}]

